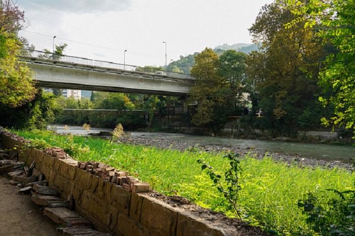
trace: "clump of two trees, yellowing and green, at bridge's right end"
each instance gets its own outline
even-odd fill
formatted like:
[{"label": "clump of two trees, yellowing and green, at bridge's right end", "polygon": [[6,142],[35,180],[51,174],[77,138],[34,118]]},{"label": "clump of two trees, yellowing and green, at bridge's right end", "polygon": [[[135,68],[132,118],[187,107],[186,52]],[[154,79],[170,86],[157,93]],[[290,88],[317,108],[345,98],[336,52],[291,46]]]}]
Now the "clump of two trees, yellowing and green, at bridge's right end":
[{"label": "clump of two trees, yellowing and green, at bridge's right end", "polygon": [[[195,56],[191,75],[195,86],[189,91],[192,123],[197,126],[223,127],[228,115],[241,113],[247,77],[246,54],[225,51],[221,57],[209,48]],[[241,111],[240,111],[241,110]]]}]

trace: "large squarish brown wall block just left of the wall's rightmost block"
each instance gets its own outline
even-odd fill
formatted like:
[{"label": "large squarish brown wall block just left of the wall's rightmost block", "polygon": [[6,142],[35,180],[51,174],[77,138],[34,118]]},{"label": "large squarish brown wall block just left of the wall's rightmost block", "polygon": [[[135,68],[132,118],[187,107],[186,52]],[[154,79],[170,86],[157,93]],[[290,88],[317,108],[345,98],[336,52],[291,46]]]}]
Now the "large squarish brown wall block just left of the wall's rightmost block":
[{"label": "large squarish brown wall block just left of the wall's rightmost block", "polygon": [[171,206],[144,196],[140,223],[149,228],[152,235],[174,235],[177,211]]}]

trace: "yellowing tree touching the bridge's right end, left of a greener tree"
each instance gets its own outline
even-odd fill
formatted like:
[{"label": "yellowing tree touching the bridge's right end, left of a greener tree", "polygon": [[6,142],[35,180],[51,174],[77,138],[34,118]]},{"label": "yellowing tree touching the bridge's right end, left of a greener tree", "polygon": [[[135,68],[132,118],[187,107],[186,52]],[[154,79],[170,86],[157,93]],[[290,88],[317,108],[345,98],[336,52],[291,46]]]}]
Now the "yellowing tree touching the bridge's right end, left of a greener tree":
[{"label": "yellowing tree touching the bridge's right end, left of a greener tree", "polygon": [[212,49],[206,48],[195,56],[195,64],[191,69],[195,78],[195,86],[188,94],[188,102],[195,104],[196,113],[192,116],[192,123],[200,126],[214,121],[214,107],[224,102],[219,91],[224,87],[220,76],[220,60]]}]

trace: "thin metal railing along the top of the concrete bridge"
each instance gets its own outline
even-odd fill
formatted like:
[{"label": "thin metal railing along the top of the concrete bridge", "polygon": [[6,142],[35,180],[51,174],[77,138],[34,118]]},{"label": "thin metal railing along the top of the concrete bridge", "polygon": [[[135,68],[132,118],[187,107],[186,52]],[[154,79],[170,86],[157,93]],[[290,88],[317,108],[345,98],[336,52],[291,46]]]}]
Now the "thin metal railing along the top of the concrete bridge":
[{"label": "thin metal railing along the top of the concrete bridge", "polygon": [[124,64],[108,62],[108,61],[98,61],[98,60],[82,58],[82,57],[59,55],[59,54],[53,54],[50,52],[43,52],[37,50],[20,49],[19,54],[22,57],[41,58],[41,59],[52,60],[52,61],[89,65],[93,67],[101,67],[101,68],[117,69],[117,70],[125,70],[125,71],[137,71],[137,72],[144,72],[149,74],[168,76],[172,78],[187,78],[193,80],[193,77],[190,74],[176,73],[170,71],[166,72],[165,70],[156,70],[152,68],[146,68],[146,67],[140,67],[134,65],[124,65]]}]

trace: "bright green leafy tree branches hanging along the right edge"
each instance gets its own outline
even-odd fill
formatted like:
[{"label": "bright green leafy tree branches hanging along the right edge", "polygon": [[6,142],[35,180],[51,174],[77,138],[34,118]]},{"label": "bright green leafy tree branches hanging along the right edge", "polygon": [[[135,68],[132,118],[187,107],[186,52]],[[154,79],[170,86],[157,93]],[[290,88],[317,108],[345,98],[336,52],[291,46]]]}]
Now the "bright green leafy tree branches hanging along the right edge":
[{"label": "bright green leafy tree branches hanging along the right edge", "polygon": [[[334,116],[323,119],[326,125],[344,125],[347,129],[355,128],[355,1],[330,0],[307,2],[289,0],[288,5],[298,16],[287,26],[304,20],[306,28],[321,29],[317,36],[330,40],[339,50],[329,55],[326,67],[319,73],[319,84],[324,90],[331,89],[334,94],[329,97],[320,96],[324,106],[334,106]],[[299,8],[294,8],[298,5]]]}]

